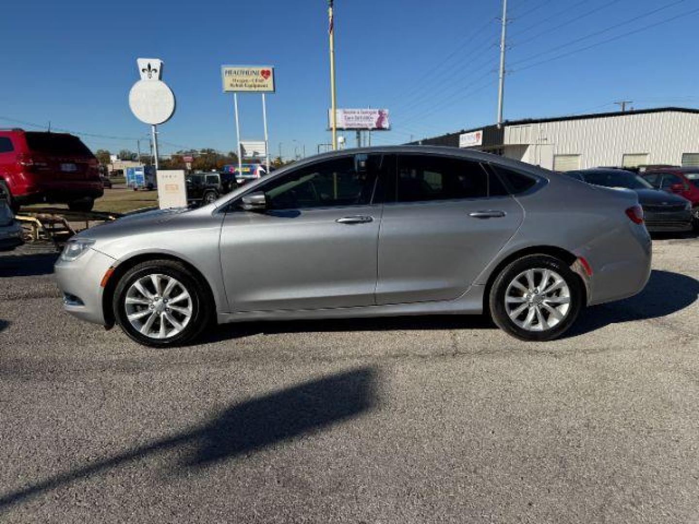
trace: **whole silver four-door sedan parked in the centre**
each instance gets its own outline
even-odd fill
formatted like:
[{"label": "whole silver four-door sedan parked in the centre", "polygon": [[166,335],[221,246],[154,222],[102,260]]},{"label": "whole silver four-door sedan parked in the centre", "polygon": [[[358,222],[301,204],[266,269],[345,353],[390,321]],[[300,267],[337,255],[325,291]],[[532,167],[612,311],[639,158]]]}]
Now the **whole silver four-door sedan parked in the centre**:
[{"label": "whole silver four-door sedan parked in the centre", "polygon": [[638,293],[633,191],[491,154],[375,147],[296,162],[196,210],[88,229],[56,264],[65,309],[152,347],[211,321],[488,313],[552,340]]}]

